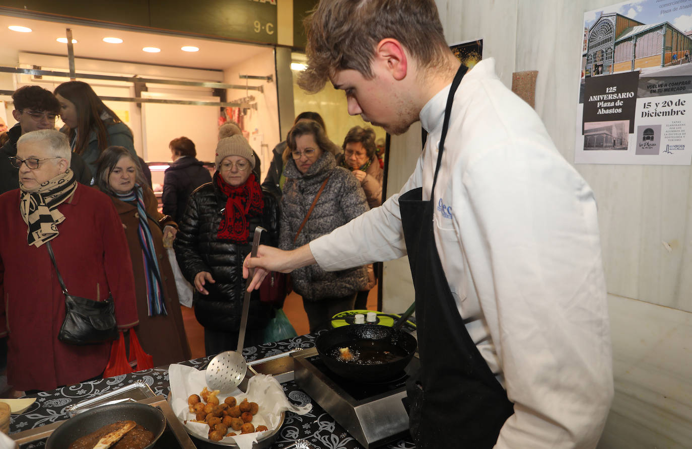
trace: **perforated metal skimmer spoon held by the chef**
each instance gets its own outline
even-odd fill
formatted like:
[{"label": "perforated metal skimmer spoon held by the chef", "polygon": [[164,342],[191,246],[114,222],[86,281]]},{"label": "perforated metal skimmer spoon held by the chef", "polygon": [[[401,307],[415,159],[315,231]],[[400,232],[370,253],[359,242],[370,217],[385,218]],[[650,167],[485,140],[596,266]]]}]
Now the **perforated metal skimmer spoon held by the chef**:
[{"label": "perforated metal skimmer spoon held by the chef", "polygon": [[[261,226],[255,228],[253,238],[252,257],[257,257],[257,246],[260,246],[260,236],[266,229]],[[205,378],[208,387],[219,390],[221,393],[232,392],[245,378],[248,364],[243,357],[243,345],[245,342],[245,328],[248,324],[248,311],[250,311],[250,295],[248,286],[253,279],[255,269],[250,268],[250,274],[245,284],[245,296],[243,298],[243,312],[240,318],[240,333],[238,335],[238,347],[236,351],[224,351],[218,354],[207,366]]]}]

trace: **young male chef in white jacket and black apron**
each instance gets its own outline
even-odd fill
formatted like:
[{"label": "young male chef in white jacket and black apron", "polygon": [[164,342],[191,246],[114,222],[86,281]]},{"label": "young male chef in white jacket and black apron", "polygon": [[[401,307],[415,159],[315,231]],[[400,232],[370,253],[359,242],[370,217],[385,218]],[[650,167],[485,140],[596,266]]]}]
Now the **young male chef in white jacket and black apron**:
[{"label": "young male chef in white jacket and black apron", "polygon": [[528,104],[450,52],[432,0],[330,0],[307,22],[303,89],[329,80],[348,111],[428,137],[399,194],[290,252],[287,273],[408,255],[421,373],[418,448],[595,448],[612,401],[596,202]]}]

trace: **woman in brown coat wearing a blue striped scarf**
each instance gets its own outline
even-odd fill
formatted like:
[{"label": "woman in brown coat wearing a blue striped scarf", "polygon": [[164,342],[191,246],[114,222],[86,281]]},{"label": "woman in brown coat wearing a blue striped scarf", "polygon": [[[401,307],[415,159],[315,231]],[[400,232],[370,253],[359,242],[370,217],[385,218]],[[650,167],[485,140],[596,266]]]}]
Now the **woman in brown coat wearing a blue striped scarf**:
[{"label": "woman in brown coat wearing a blue striped scarf", "polygon": [[154,366],[189,360],[175,278],[163,247],[164,240],[174,239],[176,223],[158,212],[154,192],[124,147],[104,149],[96,184],[111,197],[125,228],[140,317],[135,329],[142,348],[154,357]]}]

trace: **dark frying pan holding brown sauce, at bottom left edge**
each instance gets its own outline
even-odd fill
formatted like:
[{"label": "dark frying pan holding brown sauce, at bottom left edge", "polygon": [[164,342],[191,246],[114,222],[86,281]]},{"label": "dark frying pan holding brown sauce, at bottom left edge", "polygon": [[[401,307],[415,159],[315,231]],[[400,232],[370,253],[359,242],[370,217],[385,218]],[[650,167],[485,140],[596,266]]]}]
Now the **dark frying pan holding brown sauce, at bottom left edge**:
[{"label": "dark frying pan holding brown sauce, at bottom left edge", "polygon": [[154,440],[145,449],[153,448],[166,428],[163,412],[151,405],[131,402],[103,405],[80,413],[60,425],[46,441],[46,449],[68,449],[75,439],[95,432],[104,425],[127,420],[143,425],[154,434]]}]

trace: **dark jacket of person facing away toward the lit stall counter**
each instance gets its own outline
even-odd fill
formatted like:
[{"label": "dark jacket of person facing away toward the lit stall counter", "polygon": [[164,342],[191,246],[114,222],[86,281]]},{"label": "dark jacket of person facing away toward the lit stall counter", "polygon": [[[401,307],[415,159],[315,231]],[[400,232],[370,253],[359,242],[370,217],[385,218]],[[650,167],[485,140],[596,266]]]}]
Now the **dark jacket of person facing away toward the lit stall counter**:
[{"label": "dark jacket of person facing away toward the lit stall counter", "polygon": [[179,158],[163,175],[163,213],[178,222],[183,218],[190,194],[202,184],[212,180],[209,170],[197,158]]}]

